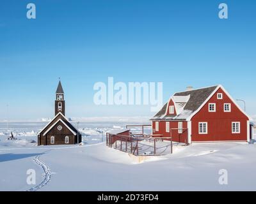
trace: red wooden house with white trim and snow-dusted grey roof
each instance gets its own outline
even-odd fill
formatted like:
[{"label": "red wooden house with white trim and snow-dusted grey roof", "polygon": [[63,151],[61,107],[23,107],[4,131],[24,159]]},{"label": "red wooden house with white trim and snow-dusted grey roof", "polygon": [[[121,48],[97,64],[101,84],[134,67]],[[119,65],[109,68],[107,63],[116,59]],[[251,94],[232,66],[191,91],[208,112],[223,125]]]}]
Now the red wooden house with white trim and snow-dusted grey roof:
[{"label": "red wooden house with white trim and snow-dusted grey roof", "polygon": [[152,135],[172,136],[175,142],[253,139],[250,117],[221,85],[177,92],[151,120]]}]

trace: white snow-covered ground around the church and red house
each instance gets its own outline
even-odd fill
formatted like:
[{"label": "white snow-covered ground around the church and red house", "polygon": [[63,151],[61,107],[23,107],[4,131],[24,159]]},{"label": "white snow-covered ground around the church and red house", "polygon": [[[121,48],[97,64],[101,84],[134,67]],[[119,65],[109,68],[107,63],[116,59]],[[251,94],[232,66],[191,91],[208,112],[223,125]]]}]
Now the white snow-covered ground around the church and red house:
[{"label": "white snow-covered ground around the church and red house", "polygon": [[[125,128],[120,122],[84,122],[82,146],[36,146],[44,123],[15,123],[17,140],[6,141],[0,124],[0,191],[255,191],[256,145],[243,143],[179,146],[174,154],[135,157],[106,147],[102,133]],[[138,131],[138,129],[133,129]],[[28,185],[27,170],[36,172]],[[219,184],[219,171],[228,185]]]}]

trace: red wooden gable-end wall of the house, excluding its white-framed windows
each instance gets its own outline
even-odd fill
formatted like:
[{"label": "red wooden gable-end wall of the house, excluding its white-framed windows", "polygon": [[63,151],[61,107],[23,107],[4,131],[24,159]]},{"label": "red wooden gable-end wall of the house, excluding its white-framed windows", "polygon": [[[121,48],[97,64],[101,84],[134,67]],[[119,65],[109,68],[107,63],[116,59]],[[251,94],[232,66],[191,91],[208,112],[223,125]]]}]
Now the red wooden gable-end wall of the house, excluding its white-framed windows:
[{"label": "red wooden gable-end wall of the house, excluding its white-framed windows", "polygon": [[[222,93],[223,99],[217,99],[217,94]],[[216,112],[209,112],[209,103],[216,103]],[[224,103],[231,104],[231,112],[224,112]],[[209,101],[204,105],[200,112],[191,119],[192,142],[206,141],[232,141],[247,140],[247,120],[248,117],[237,108],[228,98],[227,94],[220,88]],[[198,134],[198,122],[208,122],[208,134]],[[232,122],[240,122],[241,131],[239,134],[232,134]]]}]

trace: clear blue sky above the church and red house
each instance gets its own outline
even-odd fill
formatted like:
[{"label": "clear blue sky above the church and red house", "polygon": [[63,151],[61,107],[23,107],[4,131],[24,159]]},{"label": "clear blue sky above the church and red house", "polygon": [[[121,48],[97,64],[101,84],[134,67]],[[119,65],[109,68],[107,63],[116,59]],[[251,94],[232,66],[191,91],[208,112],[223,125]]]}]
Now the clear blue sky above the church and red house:
[{"label": "clear blue sky above the church and red house", "polygon": [[[26,5],[36,4],[36,19]],[[228,4],[228,19],[218,5]],[[256,115],[255,1],[14,1],[0,4],[0,119],[54,114],[61,77],[68,117],[153,115],[96,106],[93,85],[163,82],[164,101],[188,85],[222,84]]]}]

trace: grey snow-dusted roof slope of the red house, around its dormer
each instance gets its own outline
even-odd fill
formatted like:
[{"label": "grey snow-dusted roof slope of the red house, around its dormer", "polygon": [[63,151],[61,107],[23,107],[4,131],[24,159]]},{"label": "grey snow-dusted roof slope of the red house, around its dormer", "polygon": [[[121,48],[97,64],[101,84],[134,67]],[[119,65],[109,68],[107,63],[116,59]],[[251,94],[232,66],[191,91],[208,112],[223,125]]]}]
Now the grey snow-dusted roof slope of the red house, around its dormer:
[{"label": "grey snow-dusted roof slope of the red house, around its dormer", "polygon": [[200,106],[207,98],[209,98],[217,87],[218,85],[192,91],[177,92],[173,96],[190,96],[188,102],[183,108],[183,111],[179,115],[166,115],[165,113],[168,105],[168,103],[166,103],[151,120],[186,120],[186,118],[200,108]]}]

